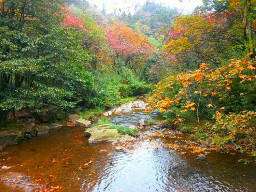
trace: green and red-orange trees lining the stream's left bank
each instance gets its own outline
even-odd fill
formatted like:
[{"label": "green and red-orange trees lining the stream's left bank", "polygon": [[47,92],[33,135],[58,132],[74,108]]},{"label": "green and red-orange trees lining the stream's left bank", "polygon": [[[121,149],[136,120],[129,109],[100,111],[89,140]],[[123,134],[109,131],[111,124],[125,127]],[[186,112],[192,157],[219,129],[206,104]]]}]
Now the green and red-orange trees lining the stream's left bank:
[{"label": "green and red-orange trees lining the stream's left bank", "polygon": [[151,43],[73,3],[0,0],[0,124],[20,109],[112,107],[150,89],[134,72]]}]

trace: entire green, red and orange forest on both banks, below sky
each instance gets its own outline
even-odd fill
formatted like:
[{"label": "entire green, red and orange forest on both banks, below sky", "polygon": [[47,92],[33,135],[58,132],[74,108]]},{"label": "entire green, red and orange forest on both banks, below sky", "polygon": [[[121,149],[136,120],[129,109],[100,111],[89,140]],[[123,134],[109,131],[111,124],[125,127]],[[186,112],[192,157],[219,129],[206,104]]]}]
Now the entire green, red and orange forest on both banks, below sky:
[{"label": "entire green, red and orange forest on both banks, below sky", "polygon": [[184,14],[145,1],[107,14],[80,0],[0,0],[0,124],[24,108],[109,108],[152,91],[148,113],[252,149],[255,7],[203,0]]}]

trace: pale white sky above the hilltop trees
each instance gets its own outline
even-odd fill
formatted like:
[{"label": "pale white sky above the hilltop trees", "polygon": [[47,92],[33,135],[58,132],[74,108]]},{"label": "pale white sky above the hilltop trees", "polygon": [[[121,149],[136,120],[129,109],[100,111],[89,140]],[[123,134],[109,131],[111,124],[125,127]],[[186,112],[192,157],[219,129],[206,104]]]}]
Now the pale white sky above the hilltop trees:
[{"label": "pale white sky above the hilltop trees", "polygon": [[[106,6],[107,13],[111,13],[114,9],[121,9],[122,11],[127,10],[134,13],[134,6],[136,4],[143,5],[146,0],[88,0],[91,4],[96,4],[98,9],[102,9],[102,4]],[[153,0],[150,0],[153,1]],[[154,0],[156,3],[163,3],[163,5],[169,6],[170,8],[178,8],[184,10],[183,12],[191,13],[197,5],[202,5],[202,0]],[[181,2],[180,2],[181,1]]]}]

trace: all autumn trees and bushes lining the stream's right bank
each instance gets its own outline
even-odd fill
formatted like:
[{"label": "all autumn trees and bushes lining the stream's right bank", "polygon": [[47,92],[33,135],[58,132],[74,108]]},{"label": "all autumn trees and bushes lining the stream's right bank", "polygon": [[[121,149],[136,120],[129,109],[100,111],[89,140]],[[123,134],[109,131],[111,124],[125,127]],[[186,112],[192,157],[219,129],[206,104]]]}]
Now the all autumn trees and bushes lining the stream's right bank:
[{"label": "all autumn trees and bushes lining the stream's right bank", "polygon": [[[197,122],[196,129],[186,129],[214,137],[215,144],[239,143],[252,149],[256,141],[256,2],[203,2],[195,13],[181,15],[162,28],[161,51],[171,58],[172,72],[157,84],[148,112],[158,109],[180,129]],[[213,126],[203,126],[206,119]]]}]

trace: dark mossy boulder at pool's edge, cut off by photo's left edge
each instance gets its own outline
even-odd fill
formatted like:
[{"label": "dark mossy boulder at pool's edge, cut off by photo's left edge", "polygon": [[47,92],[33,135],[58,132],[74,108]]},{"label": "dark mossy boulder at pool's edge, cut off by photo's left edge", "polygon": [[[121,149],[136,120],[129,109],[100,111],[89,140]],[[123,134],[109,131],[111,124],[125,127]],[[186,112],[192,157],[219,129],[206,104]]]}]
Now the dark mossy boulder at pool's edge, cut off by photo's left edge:
[{"label": "dark mossy boulder at pool's edge, cut off by photo's left edge", "polygon": [[22,139],[22,131],[6,130],[0,131],[0,143],[5,145],[17,145]]}]

